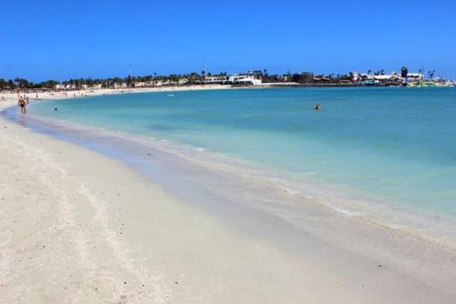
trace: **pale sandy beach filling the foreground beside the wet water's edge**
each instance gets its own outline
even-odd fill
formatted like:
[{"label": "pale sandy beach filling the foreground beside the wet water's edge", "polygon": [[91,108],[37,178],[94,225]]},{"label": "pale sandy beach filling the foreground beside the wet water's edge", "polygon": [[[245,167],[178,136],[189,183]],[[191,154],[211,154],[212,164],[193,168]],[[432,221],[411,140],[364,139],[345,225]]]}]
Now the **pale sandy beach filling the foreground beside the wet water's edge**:
[{"label": "pale sandy beach filling the foreground beside the wet water's edge", "polygon": [[[305,207],[307,218],[295,218],[297,228],[252,211],[263,225],[243,233],[115,159],[0,119],[5,302],[26,297],[72,302],[81,289],[88,298],[79,299],[88,302],[456,302],[456,262],[448,248],[431,248],[375,223],[359,226],[312,204]],[[122,190],[113,191],[116,187]],[[29,214],[41,218],[29,223]],[[265,230],[269,220],[275,227]],[[275,246],[273,238],[285,233],[290,243]],[[100,251],[90,251],[88,244]],[[78,266],[67,271],[68,262]],[[52,274],[56,271],[60,276]]]}]

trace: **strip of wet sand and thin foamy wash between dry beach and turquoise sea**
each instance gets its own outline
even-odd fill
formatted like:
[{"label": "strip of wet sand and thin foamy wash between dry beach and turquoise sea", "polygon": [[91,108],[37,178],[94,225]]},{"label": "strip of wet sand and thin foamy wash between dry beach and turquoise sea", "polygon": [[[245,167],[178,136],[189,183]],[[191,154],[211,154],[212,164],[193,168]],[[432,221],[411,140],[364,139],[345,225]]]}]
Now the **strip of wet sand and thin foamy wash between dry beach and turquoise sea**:
[{"label": "strip of wet sand and thin foamy wash between dry beach and turquoise sea", "polygon": [[[3,111],[2,115],[17,120],[12,110]],[[282,205],[281,208],[299,211],[300,204],[320,205],[331,208],[344,217],[360,218],[379,226],[417,234],[422,238],[456,244],[456,225],[451,218],[420,213],[406,207],[389,206],[385,202],[373,201],[327,185],[267,172],[264,168],[254,167],[242,160],[223,157],[204,149],[154,138],[131,137],[43,117],[26,117],[22,123],[38,132],[96,149],[111,157],[119,157],[127,163],[127,158],[135,157],[130,164],[138,161],[150,162],[147,153],[144,152],[153,151],[156,162],[154,166],[161,166],[167,170],[174,169],[176,172],[192,172],[192,178],[196,179],[196,183],[209,187],[212,193],[232,200],[244,200],[244,204],[250,204],[254,208],[271,211],[268,204],[279,204]],[[161,164],[158,164],[160,162]],[[146,167],[143,169],[147,170]],[[202,174],[203,171],[205,176]],[[204,177],[198,180],[200,175]],[[154,178],[160,177],[154,175]],[[286,219],[286,215],[284,217]]]}]

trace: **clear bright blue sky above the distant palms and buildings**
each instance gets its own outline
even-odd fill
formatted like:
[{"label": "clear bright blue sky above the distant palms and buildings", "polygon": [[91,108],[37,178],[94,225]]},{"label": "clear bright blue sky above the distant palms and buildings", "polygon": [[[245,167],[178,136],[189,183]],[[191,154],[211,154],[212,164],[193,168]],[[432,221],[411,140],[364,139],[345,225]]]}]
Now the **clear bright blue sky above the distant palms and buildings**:
[{"label": "clear bright blue sky above the distant palms and buildings", "polygon": [[455,0],[0,0],[0,77],[456,73]]}]

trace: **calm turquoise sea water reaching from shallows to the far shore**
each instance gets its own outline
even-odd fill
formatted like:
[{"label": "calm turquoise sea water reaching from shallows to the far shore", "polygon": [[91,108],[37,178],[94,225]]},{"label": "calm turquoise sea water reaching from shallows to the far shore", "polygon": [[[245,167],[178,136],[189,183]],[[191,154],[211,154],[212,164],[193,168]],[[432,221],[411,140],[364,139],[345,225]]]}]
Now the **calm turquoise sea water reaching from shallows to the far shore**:
[{"label": "calm turquoise sea water reaching from shallows to the far shore", "polygon": [[48,101],[30,110],[456,217],[455,88],[160,92]]}]

